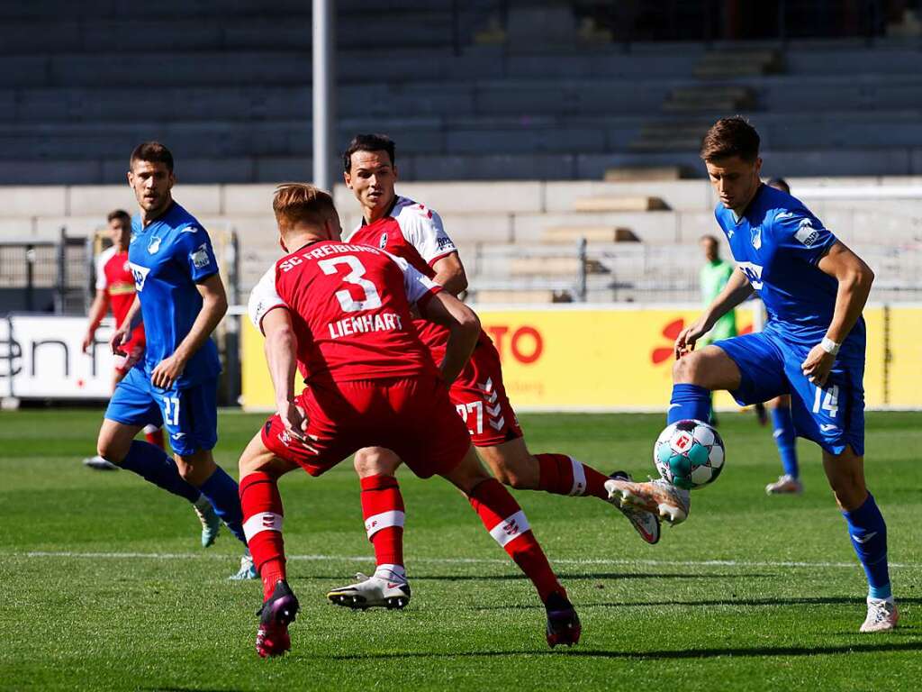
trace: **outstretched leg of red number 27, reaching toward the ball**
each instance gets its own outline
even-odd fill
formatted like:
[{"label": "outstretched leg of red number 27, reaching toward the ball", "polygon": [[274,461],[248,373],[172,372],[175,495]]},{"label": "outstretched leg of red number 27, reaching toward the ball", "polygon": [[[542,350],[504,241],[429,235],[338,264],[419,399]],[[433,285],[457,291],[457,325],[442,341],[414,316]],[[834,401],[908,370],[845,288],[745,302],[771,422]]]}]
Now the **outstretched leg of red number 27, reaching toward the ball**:
[{"label": "outstretched leg of red number 27, reaching toward the ball", "polygon": [[[478,447],[496,479],[516,490],[543,490],[551,495],[591,496],[611,502],[609,476],[566,454],[531,454],[522,437],[491,447]],[[612,476],[627,477],[623,471]],[[659,541],[659,519],[644,509],[611,503],[631,522],[646,543]]]}]

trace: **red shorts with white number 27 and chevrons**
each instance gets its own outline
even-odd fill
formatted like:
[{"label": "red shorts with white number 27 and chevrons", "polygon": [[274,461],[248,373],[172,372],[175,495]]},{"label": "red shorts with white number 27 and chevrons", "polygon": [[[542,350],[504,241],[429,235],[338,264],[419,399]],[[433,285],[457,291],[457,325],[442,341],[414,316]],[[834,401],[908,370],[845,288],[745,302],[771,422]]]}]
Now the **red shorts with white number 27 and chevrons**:
[{"label": "red shorts with white number 27 and chevrons", "polygon": [[502,386],[500,354],[492,341],[479,341],[449,394],[476,447],[493,447],[522,436]]}]

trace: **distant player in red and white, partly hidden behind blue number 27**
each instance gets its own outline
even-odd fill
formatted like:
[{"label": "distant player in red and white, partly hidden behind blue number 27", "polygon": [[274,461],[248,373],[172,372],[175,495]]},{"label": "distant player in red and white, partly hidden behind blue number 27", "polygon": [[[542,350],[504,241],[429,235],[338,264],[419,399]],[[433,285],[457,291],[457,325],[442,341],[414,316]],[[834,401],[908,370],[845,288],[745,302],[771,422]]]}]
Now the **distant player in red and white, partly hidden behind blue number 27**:
[{"label": "distant player in red and white, partly hidden behind blue number 27", "polygon": [[[96,259],[96,298],[89,308],[89,326],[83,337],[83,352],[89,351],[102,318],[111,308],[115,325],[124,322],[131,304],[135,302],[135,277],[128,268],[128,244],[131,242],[131,216],[124,209],[115,209],[107,217],[112,246],[103,250]],[[131,370],[144,355],[144,326],[138,325],[131,340],[124,344],[124,355],[115,356],[112,371],[112,388]],[[163,448],[163,430],[157,425],[147,425],[144,436],[151,445]],[[84,459],[90,469],[116,471],[115,464],[100,456]]]}]

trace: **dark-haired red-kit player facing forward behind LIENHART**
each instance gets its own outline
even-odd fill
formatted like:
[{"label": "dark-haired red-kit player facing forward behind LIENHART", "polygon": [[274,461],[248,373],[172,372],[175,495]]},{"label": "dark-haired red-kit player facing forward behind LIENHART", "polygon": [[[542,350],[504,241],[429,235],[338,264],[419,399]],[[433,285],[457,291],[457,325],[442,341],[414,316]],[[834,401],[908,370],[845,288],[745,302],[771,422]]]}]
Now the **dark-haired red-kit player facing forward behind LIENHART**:
[{"label": "dark-haired red-kit player facing forward behind LIENHART", "polygon": [[[363,216],[361,226],[349,236],[349,242],[380,247],[402,257],[446,292],[457,295],[467,289],[457,248],[434,210],[396,195],[394,156],[394,142],[383,135],[359,135],[343,155],[346,185],[359,200]],[[416,326],[420,339],[439,363],[447,332],[425,320],[417,320]],[[481,331],[470,362],[452,384],[450,395],[456,411],[467,423],[479,456],[501,483],[519,490],[590,495],[610,501],[605,488],[608,475],[565,454],[532,454],[528,450],[502,384],[499,353],[486,333]],[[381,495],[399,497],[394,478],[399,464],[398,456],[382,447],[361,449],[356,455],[362,510],[378,569],[371,578],[359,575],[357,583],[330,591],[327,596],[334,603],[350,606],[360,598],[363,606],[385,605],[382,593],[386,591],[385,582],[406,583],[403,565],[388,559],[388,555],[402,554],[402,503],[398,511],[370,523],[379,513]],[[623,471],[612,475],[628,478]],[[627,505],[620,508],[644,541],[659,540],[659,519],[655,514]]]}]

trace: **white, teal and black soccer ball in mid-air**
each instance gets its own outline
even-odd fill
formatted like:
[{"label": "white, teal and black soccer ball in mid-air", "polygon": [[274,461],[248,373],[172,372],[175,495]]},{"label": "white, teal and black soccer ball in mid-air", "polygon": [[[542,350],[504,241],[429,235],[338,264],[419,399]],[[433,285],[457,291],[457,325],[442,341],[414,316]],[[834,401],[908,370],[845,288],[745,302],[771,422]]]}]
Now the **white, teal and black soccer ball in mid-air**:
[{"label": "white, teal and black soccer ball in mid-air", "polygon": [[668,483],[694,490],[714,483],[720,475],[724,468],[724,441],[703,421],[677,421],[656,438],[653,462]]}]

